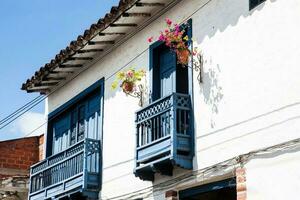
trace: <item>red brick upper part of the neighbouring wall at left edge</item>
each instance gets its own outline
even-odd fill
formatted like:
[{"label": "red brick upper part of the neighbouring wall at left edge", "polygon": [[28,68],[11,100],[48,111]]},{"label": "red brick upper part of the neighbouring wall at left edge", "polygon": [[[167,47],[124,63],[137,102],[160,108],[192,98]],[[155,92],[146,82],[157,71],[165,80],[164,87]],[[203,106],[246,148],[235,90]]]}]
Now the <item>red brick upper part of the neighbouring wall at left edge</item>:
[{"label": "red brick upper part of the neighbouring wall at left edge", "polygon": [[39,161],[40,136],[0,142],[0,168],[28,170]]}]

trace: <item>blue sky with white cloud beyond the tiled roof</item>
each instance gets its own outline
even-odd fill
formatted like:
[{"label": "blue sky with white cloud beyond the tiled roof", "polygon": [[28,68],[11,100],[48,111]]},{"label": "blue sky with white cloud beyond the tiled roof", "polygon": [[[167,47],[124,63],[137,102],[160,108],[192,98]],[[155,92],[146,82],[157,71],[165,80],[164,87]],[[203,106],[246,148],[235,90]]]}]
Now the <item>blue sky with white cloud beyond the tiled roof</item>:
[{"label": "blue sky with white cloud beyond the tiled roof", "polygon": [[[117,4],[118,0],[1,0],[0,120],[38,96],[20,90],[27,78]],[[44,102],[1,129],[0,140],[35,129],[44,121],[43,112]]]}]

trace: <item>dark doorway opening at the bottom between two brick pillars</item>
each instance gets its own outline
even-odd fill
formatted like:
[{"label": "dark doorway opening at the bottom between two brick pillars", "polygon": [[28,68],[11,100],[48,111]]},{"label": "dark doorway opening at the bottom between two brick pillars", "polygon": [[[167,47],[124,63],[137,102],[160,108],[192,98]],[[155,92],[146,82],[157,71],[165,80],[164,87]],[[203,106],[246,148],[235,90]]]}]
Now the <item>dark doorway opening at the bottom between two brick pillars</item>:
[{"label": "dark doorway opening at the bottom between two brick pillars", "polygon": [[201,185],[179,192],[180,200],[236,200],[235,178]]}]

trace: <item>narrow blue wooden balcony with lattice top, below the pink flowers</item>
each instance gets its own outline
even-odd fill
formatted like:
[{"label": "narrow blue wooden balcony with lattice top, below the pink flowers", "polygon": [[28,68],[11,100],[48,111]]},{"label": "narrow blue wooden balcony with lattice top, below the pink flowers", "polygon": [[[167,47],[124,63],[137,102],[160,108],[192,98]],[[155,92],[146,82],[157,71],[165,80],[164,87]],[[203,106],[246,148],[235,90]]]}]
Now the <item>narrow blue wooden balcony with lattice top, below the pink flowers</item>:
[{"label": "narrow blue wooden balcony with lattice top, below the pink flowers", "polygon": [[193,116],[190,96],[173,93],[136,112],[136,166],[142,180],[159,172],[172,175],[174,166],[192,169]]}]

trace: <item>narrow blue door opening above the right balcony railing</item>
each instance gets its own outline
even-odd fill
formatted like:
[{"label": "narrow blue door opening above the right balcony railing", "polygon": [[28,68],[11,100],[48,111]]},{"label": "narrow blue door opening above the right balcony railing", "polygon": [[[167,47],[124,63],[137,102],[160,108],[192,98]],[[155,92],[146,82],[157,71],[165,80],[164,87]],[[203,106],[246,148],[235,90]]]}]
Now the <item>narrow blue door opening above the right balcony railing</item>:
[{"label": "narrow blue door opening above the right balcony railing", "polygon": [[[191,38],[191,20],[185,34]],[[152,72],[151,100],[166,97],[173,92],[188,94],[188,68],[177,63],[176,53],[163,42],[150,46],[150,71]]]}]

